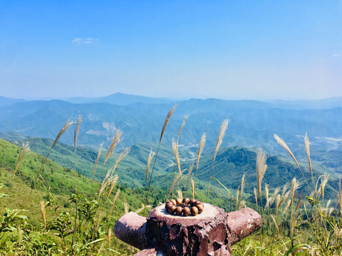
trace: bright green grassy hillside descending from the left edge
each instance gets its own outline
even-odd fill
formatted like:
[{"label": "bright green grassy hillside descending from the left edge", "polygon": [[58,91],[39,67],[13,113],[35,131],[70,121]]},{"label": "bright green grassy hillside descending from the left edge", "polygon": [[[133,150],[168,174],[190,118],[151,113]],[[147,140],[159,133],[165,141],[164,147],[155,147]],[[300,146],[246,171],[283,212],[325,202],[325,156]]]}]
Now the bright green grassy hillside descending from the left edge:
[{"label": "bright green grassy hillside descending from the left edge", "polygon": [[[21,162],[14,180],[11,183],[11,177],[14,173],[16,162],[19,156],[19,146],[15,146],[9,142],[4,142],[0,139],[0,177],[1,183],[6,186],[1,190],[1,193],[9,195],[6,200],[6,206],[9,208],[26,208],[28,211],[25,215],[31,219],[31,223],[38,224],[41,221],[41,213],[39,210],[39,202],[46,201],[48,196],[48,186],[56,203],[60,206],[61,210],[68,210],[70,207],[68,199],[72,193],[75,193],[75,173],[70,169],[63,168],[51,160],[47,160],[46,164],[41,171],[41,176],[46,181],[38,178],[36,188],[33,190],[31,198],[28,194],[31,191],[33,180],[41,168],[43,156],[30,152],[24,161]],[[98,183],[94,183],[92,188],[92,181],[86,176],[78,174],[77,177],[77,190],[78,193],[85,195],[88,198],[94,198],[95,193],[98,191]],[[118,188],[114,188],[112,197]],[[138,191],[132,191],[130,188],[120,186],[120,196],[115,203],[115,211],[113,215],[119,216],[123,214],[123,202],[128,201],[130,210],[136,210],[141,207],[142,196]],[[0,199],[0,206],[2,208],[4,198]],[[64,207],[66,206],[66,207]],[[108,207],[108,206],[107,206]],[[53,213],[48,215],[48,218],[54,218]]]}]

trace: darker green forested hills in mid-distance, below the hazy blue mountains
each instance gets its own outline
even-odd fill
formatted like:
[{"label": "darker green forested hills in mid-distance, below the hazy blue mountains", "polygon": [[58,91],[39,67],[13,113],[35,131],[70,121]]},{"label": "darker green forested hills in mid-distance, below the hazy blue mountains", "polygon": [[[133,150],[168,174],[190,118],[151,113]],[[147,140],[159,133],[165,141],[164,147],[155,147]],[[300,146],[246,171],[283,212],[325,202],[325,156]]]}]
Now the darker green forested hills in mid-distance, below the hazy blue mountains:
[{"label": "darker green forested hills in mid-distance, below the hazy blue mountains", "polygon": [[[31,149],[39,154],[45,155],[48,152],[49,147],[53,143],[51,139],[41,139],[41,138],[29,138],[24,141],[30,143]],[[123,159],[118,165],[116,172],[120,176],[120,183],[127,184],[130,187],[141,187],[145,184],[145,169],[148,154],[152,149],[155,151],[157,144],[147,144],[141,143],[131,147],[130,154]],[[192,154],[195,151],[195,154]],[[188,169],[190,165],[190,159],[193,159],[197,154],[197,149],[184,149],[180,146],[180,159],[182,162],[182,169]],[[199,188],[206,190],[207,181],[209,180],[210,169],[212,166],[212,149],[204,150],[204,155],[199,161],[199,173],[197,178],[199,178]],[[315,151],[312,152],[316,154]],[[85,147],[79,146],[77,149],[77,162],[78,171],[82,174],[92,177],[93,176],[93,164],[97,156],[97,151],[87,149]],[[95,174],[96,179],[100,174],[102,176],[105,173],[103,170],[103,163],[105,157],[105,151],[103,151],[100,161],[98,164],[98,171]],[[110,166],[113,166],[115,160],[118,157],[118,153],[114,153],[110,161]],[[54,150],[51,152],[50,159],[56,161],[56,163],[61,166],[73,169],[73,146],[67,144],[57,144]],[[172,183],[172,173],[174,170],[174,156],[172,153],[171,146],[165,144],[161,145],[156,166],[154,178],[152,181],[153,186],[164,188],[168,190]],[[306,179],[309,181],[311,179],[309,169],[305,159],[302,165],[302,170]],[[241,178],[244,173],[246,173],[247,186],[245,192],[252,194],[254,187],[257,186],[257,177],[255,173],[255,163],[256,163],[256,151],[253,149],[245,149],[241,147],[222,147],[217,154],[217,159],[214,163],[213,176],[219,179],[220,182],[227,186],[227,188],[232,188],[232,191],[236,190],[240,185]],[[277,156],[269,156],[267,160],[268,169],[264,176],[263,183],[269,183],[271,185],[270,189],[284,186],[286,182],[291,182],[292,178],[296,177],[301,181],[304,186],[302,189],[306,189],[307,186],[302,178],[300,171],[294,166],[294,162],[288,159],[281,159]],[[152,169],[152,166],[150,166]],[[176,168],[177,171],[177,168]],[[194,170],[195,171],[195,170]],[[315,180],[318,176],[322,175],[325,171],[331,172],[326,169],[325,166],[314,164],[314,176]],[[187,172],[185,172],[187,174]],[[186,183],[186,181],[185,181]],[[217,181],[212,182],[212,191],[217,193],[219,196],[228,196],[227,191],[225,191],[222,186],[217,183]],[[336,197],[336,188],[338,188],[338,176],[331,174],[329,182],[327,184],[326,193],[332,198]],[[305,191],[307,193],[309,191]]]}]

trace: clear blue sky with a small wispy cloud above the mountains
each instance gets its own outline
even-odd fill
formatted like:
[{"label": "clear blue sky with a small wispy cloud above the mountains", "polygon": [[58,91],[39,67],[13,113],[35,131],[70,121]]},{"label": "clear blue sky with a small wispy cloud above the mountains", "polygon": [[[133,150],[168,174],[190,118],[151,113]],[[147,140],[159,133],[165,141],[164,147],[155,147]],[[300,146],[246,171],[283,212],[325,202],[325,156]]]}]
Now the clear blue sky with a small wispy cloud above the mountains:
[{"label": "clear blue sky with a small wispy cloud above the mountains", "polygon": [[341,1],[0,1],[0,95],[342,96]]}]

